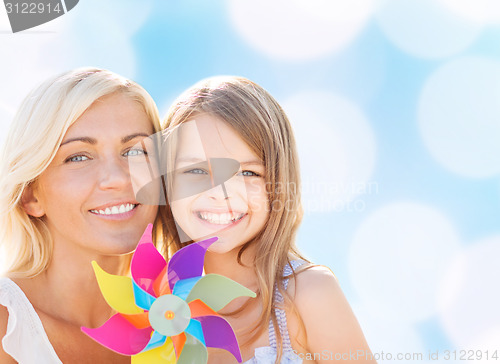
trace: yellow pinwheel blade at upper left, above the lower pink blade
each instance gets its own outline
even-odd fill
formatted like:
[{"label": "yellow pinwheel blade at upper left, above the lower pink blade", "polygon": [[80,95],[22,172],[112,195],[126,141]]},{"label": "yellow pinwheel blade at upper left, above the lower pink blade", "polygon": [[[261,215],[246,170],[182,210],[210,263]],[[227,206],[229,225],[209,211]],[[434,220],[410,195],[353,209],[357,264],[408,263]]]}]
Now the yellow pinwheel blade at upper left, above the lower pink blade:
[{"label": "yellow pinwheel blade at upper left, above the lower pink blade", "polygon": [[129,277],[115,276],[105,272],[96,261],[92,262],[94,273],[99,283],[104,299],[113,309],[126,315],[143,313],[137,307],[134,299],[132,279]]}]

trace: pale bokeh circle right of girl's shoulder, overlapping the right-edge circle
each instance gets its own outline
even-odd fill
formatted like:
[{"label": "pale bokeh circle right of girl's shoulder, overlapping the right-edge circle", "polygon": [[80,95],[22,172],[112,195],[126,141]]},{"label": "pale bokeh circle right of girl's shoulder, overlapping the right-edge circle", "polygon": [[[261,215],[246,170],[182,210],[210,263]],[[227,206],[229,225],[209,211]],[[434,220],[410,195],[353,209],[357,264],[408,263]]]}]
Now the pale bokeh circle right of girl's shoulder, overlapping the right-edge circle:
[{"label": "pale bokeh circle right of girl's shoulder, overlapping the right-edge circle", "polygon": [[367,217],[353,238],[349,271],[361,299],[388,320],[413,323],[436,312],[437,279],[459,249],[436,209],[397,202]]}]

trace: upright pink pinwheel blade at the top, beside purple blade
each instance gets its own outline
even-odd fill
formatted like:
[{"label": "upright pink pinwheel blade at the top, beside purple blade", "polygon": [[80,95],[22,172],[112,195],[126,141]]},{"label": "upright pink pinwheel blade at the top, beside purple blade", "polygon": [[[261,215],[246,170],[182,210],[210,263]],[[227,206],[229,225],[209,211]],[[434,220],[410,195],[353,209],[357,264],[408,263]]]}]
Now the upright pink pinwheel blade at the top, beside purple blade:
[{"label": "upright pink pinwheel blade at the top, beside purple blade", "polygon": [[153,283],[167,265],[152,242],[153,225],[149,224],[134,252],[130,271],[135,283],[152,296],[156,296]]}]

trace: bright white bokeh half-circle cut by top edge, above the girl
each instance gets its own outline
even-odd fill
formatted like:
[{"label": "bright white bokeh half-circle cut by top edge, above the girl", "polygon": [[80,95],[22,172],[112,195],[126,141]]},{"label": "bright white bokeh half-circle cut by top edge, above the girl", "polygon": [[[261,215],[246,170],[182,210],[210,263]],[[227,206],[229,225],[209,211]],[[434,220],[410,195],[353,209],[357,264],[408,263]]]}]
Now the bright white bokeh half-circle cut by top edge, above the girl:
[{"label": "bright white bokeh half-circle cut by top edge, above the girl", "polygon": [[228,1],[236,31],[258,51],[303,61],[342,49],[364,28],[374,0]]}]

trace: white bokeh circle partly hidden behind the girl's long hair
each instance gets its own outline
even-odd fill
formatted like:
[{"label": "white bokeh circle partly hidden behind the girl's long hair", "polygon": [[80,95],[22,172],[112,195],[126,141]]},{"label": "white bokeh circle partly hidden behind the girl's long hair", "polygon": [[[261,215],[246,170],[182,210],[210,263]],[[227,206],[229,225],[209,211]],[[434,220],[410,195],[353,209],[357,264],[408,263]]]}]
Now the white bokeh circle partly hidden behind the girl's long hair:
[{"label": "white bokeh circle partly hidden behind the girl's long hair", "polygon": [[305,210],[364,210],[361,195],[378,186],[370,181],[376,140],[361,109],[320,91],[298,93],[282,105],[297,140]]}]

